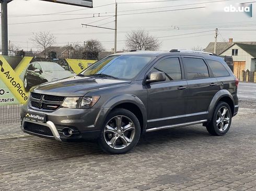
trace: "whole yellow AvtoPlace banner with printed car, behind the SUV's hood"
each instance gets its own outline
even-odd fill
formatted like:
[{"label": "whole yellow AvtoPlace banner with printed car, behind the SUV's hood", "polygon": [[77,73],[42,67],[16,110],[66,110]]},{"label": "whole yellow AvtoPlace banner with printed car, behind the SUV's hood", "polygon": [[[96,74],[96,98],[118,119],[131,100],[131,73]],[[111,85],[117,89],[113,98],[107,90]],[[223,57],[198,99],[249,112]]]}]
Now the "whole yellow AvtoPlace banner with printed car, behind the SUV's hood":
[{"label": "whole yellow AvtoPlace banner with printed car, behind the SUV's hood", "polygon": [[0,56],[0,105],[24,104],[33,85],[78,74],[95,61]]}]

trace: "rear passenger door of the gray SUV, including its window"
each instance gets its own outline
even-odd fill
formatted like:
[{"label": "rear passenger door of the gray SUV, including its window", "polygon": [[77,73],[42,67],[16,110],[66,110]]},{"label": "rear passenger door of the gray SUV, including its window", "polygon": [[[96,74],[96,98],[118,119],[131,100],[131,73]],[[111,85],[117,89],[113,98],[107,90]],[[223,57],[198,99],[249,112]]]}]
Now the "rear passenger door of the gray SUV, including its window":
[{"label": "rear passenger door of the gray SUV, including its window", "polygon": [[182,61],[188,82],[187,119],[205,120],[210,103],[219,91],[219,82],[203,57],[182,56]]}]

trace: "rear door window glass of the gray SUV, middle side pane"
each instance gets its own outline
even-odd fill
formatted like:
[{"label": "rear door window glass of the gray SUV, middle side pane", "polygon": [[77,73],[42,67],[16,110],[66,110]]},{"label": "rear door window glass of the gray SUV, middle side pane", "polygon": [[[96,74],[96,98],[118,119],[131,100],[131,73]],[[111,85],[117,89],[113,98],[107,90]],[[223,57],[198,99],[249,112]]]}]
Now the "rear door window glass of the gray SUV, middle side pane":
[{"label": "rear door window glass of the gray SUV, middle side pane", "polygon": [[209,78],[208,68],[201,58],[182,58],[187,79]]}]

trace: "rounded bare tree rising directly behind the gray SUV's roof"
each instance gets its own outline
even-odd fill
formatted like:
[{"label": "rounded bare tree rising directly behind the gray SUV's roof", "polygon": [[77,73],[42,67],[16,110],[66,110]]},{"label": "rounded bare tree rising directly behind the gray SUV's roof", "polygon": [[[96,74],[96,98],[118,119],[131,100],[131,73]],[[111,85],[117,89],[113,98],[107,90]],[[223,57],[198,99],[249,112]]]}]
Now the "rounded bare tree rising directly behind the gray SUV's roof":
[{"label": "rounded bare tree rising directly behind the gray SUV's roof", "polygon": [[135,50],[158,50],[161,46],[161,42],[144,30],[127,33],[125,44]]}]

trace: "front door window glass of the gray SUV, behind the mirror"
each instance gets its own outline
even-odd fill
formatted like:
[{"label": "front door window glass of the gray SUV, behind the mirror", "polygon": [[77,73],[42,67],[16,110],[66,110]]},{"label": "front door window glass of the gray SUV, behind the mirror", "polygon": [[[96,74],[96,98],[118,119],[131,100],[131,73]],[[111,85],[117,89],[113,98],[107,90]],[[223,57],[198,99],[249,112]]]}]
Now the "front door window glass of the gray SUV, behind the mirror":
[{"label": "front door window glass of the gray SUV, behind the mirror", "polygon": [[166,81],[182,79],[179,58],[166,58],[159,61],[152,69],[152,72],[164,72]]}]

